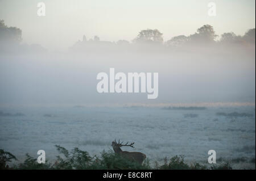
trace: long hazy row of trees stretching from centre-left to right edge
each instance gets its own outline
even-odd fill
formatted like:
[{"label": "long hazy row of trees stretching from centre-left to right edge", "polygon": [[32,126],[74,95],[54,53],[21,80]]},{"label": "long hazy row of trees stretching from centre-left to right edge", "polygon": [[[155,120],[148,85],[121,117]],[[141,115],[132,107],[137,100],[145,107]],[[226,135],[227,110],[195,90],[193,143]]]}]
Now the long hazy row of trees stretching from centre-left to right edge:
[{"label": "long hazy row of trees stretching from centre-left to right edge", "polygon": [[[147,29],[139,32],[138,36],[133,40],[133,43],[143,43],[143,44],[159,44],[166,47],[182,47],[183,45],[207,45],[207,44],[255,44],[255,28],[248,30],[245,35],[236,35],[234,32],[226,32],[220,36],[219,40],[216,40],[216,35],[214,29],[209,24],[197,29],[195,33],[190,36],[179,35],[174,36],[170,40],[163,43],[163,33],[155,29]],[[86,41],[84,36],[82,41],[78,41],[73,47],[85,47],[88,43],[101,43],[104,45],[129,45],[129,41],[118,40],[116,43],[110,41],[101,41],[98,36],[94,36],[93,39]],[[85,44],[84,44],[85,43]],[[89,44],[88,44],[89,45]],[[132,44],[131,44],[132,45]]]}]

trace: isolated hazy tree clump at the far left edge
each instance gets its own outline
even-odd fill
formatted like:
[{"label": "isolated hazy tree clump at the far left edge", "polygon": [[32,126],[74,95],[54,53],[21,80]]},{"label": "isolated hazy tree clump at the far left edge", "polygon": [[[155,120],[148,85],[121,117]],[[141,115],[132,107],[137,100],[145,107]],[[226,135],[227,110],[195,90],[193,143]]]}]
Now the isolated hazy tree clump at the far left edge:
[{"label": "isolated hazy tree clump at the far left edge", "polygon": [[22,30],[16,27],[7,27],[0,19],[0,41],[9,43],[20,43],[22,41]]}]

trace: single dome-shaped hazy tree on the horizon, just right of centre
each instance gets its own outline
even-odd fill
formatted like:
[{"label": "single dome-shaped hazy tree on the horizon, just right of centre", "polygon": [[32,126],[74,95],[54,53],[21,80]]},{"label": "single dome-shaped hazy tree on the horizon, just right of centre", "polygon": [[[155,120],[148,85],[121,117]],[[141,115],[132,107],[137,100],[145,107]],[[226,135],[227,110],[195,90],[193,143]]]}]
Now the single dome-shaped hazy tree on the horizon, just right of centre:
[{"label": "single dome-shaped hazy tree on the horizon, just right of centre", "polygon": [[163,33],[159,30],[142,30],[134,39],[135,43],[163,43]]}]

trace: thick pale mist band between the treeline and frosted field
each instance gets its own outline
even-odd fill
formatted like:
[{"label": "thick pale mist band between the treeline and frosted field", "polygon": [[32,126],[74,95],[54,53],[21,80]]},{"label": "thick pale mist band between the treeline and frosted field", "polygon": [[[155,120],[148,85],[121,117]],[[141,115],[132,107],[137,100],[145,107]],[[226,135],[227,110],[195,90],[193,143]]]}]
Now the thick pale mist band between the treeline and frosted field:
[{"label": "thick pale mist band between the treeline and frosted field", "polygon": [[[66,52],[1,54],[1,103],[255,102],[253,45],[168,48],[100,41],[82,46]],[[109,75],[110,68],[126,75],[159,73],[158,98],[147,100],[146,93],[99,94],[97,74]]]}]

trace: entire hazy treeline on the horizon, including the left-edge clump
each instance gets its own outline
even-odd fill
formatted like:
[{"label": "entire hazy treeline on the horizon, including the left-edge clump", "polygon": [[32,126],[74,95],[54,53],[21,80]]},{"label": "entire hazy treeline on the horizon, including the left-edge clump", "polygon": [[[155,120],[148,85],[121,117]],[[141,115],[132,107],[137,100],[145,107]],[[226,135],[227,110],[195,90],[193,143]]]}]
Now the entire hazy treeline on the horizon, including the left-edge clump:
[{"label": "entire hazy treeline on the horizon, including the left-edge clump", "polygon": [[[219,37],[219,39],[217,39]],[[8,27],[0,19],[0,44],[14,43],[19,44],[22,41],[22,30],[16,27]],[[226,32],[222,35],[216,35],[213,26],[206,24],[197,29],[195,33],[189,36],[179,35],[172,37],[170,40],[163,40],[163,33],[157,29],[142,30],[131,42],[127,40],[118,40],[117,42],[101,41],[100,37],[94,36],[93,39],[87,40],[85,35],[73,47],[80,47],[89,43],[105,43],[117,45],[129,44],[159,44],[167,47],[180,47],[185,44],[255,44],[255,28],[245,32],[245,35],[236,35],[234,32]]]}]

